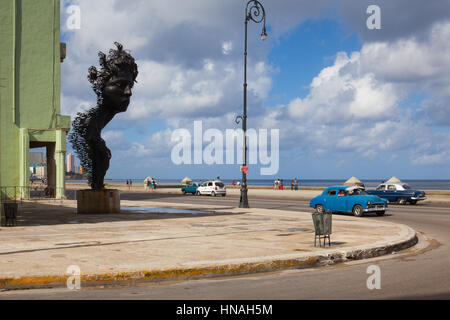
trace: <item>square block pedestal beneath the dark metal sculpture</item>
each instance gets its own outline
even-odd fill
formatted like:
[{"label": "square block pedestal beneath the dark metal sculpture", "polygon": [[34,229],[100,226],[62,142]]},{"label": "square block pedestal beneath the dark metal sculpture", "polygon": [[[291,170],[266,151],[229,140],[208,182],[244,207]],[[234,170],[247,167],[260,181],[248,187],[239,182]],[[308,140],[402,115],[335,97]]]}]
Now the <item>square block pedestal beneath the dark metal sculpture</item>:
[{"label": "square block pedestal beneath the dark metal sculpture", "polygon": [[77,213],[120,213],[120,191],[115,189],[78,190]]}]

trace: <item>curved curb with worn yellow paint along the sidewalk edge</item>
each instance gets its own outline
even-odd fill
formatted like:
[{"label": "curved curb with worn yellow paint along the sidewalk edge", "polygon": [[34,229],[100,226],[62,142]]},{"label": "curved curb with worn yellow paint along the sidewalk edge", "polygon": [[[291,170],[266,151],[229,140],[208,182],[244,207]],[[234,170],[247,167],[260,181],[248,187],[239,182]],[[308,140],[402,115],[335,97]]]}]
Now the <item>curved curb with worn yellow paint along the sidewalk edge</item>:
[{"label": "curved curb with worn yellow paint along the sidewalk edge", "polygon": [[[140,270],[124,272],[106,272],[80,275],[81,286],[118,284],[123,282],[167,280],[188,280],[217,276],[245,275],[286,269],[304,269],[333,265],[346,261],[374,258],[414,246],[418,242],[416,232],[407,226],[406,235],[395,242],[379,243],[376,246],[360,246],[349,250],[320,251],[313,255],[280,255],[272,258],[252,258],[247,262],[219,263],[209,266],[168,268],[161,270]],[[225,261],[224,261],[225,262]],[[212,263],[213,264],[213,263]],[[18,278],[0,278],[0,289],[31,289],[66,286],[69,276],[30,276]]]}]

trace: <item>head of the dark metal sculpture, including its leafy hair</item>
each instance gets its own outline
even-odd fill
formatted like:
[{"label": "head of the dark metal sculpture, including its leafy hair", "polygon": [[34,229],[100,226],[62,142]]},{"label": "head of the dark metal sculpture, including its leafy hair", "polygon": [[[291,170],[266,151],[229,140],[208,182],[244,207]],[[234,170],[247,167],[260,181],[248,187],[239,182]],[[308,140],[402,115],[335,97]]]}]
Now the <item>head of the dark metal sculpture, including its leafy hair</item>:
[{"label": "head of the dark metal sculpture, including its leafy hair", "polygon": [[124,112],[130,104],[131,89],[138,75],[137,65],[123,46],[114,42],[117,50],[109,50],[106,56],[99,52],[101,69],[89,68],[88,79],[97,94],[100,108],[108,108],[113,113]]}]

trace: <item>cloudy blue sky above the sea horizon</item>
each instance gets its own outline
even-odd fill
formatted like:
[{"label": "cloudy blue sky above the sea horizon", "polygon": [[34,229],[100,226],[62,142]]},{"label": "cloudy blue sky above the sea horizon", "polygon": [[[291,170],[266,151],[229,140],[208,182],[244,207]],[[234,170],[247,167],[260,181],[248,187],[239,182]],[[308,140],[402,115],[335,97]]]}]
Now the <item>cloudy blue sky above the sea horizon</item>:
[{"label": "cloudy blue sky above the sea horizon", "polygon": [[[276,174],[256,164],[249,178],[450,179],[447,1],[425,11],[416,0],[261,2],[269,37],[249,24],[248,125],[278,129],[280,157]],[[239,178],[239,161],[175,165],[171,137],[194,121],[239,127],[245,3],[62,1],[64,114],[94,106],[87,69],[113,41],[139,66],[128,111],[102,134],[108,178]],[[369,4],[381,8],[380,30],[367,29]],[[67,28],[69,5],[80,8],[80,29]]]}]

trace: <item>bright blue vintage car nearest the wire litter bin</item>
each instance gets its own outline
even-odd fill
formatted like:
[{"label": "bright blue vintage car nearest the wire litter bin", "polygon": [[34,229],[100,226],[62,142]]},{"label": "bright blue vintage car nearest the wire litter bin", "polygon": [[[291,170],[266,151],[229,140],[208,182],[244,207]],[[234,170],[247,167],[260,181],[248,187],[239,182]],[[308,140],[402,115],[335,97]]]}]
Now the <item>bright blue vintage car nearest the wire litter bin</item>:
[{"label": "bright blue vintage car nearest the wire litter bin", "polygon": [[351,212],[356,217],[376,212],[382,216],[387,210],[387,201],[368,195],[363,187],[335,186],[326,188],[320,196],[310,201],[309,206],[316,212]]}]

